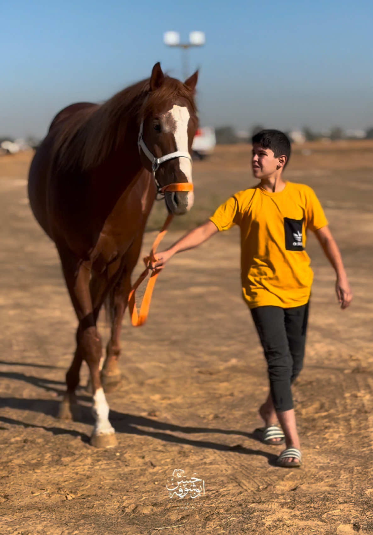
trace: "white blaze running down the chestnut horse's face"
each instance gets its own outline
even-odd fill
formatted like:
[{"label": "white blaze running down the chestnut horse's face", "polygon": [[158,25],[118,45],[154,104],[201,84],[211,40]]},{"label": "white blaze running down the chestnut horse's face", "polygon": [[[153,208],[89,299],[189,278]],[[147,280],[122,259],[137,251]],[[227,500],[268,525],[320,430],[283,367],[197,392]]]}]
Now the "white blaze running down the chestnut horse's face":
[{"label": "white blaze running down the chestnut horse's face", "polygon": [[[166,116],[171,116],[172,123],[176,125],[173,135],[175,137],[176,150],[182,152],[189,152],[188,148],[188,123],[190,119],[189,111],[186,106],[177,106],[174,104],[172,109],[166,113]],[[188,158],[178,158],[180,171],[185,174],[188,182],[192,184],[192,162]],[[194,193],[188,192],[188,207],[192,207],[194,201]]]}]

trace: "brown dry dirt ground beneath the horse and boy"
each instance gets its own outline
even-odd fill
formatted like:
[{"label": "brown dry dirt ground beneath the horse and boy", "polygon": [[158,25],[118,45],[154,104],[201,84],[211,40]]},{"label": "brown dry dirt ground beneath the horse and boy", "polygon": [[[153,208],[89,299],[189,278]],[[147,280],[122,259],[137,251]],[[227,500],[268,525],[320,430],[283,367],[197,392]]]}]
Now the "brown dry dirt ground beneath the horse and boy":
[{"label": "brown dry dirt ground beneath the horse and boy", "polygon": [[[195,207],[165,245],[252,184],[249,150],[218,147],[195,163]],[[371,142],[308,144],[286,174],[316,190],[354,292],[341,311],[333,270],[310,236],[315,282],[294,386],[301,469],[275,467],[281,449],[253,433],[268,385],[240,296],[235,230],[170,262],[146,326],[126,316],[123,383],[107,396],[119,445],[89,445],[86,368],[78,421],[56,418],[76,321],[54,246],[28,206],[31,155],[0,158],[1,535],[373,533],[372,154]],[[104,318],[100,328],[105,343]],[[189,481],[197,472],[204,495],[170,498],[177,469]]]}]

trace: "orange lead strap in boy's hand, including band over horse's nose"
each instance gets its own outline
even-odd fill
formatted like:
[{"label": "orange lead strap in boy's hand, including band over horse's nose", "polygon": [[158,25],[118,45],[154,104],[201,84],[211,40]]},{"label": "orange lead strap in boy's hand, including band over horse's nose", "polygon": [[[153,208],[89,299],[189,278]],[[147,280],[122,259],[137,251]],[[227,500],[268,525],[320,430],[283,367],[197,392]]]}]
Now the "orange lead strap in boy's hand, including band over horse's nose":
[{"label": "orange lead strap in boy's hand, including band over horse's nose", "polygon": [[[178,184],[169,184],[168,186],[164,186],[163,188],[161,188],[162,193],[164,192],[191,192],[191,191],[193,191],[193,184],[191,184],[191,182],[180,182]],[[128,310],[130,311],[131,322],[134,327],[140,327],[140,325],[143,325],[148,318],[151,296],[153,295],[154,285],[159,275],[159,272],[161,270],[154,270],[153,273],[151,274],[147,287],[145,289],[144,296],[141,301],[140,311],[138,311],[138,308],[136,307],[136,301],[135,301],[136,289],[138,289],[141,282],[144,279],[146,279],[146,277],[148,276],[149,271],[150,271],[150,268],[149,268],[150,263],[156,261],[155,253],[156,253],[157,247],[159,243],[161,243],[161,241],[163,240],[164,235],[166,234],[167,229],[172,219],[173,219],[173,215],[170,213],[167,216],[161,230],[159,231],[157,235],[157,238],[155,239],[153,243],[153,247],[151,248],[150,255],[146,256],[143,259],[144,264],[146,265],[146,269],[141,273],[138,280],[136,280],[135,284],[132,287],[130,295],[128,295]]]}]

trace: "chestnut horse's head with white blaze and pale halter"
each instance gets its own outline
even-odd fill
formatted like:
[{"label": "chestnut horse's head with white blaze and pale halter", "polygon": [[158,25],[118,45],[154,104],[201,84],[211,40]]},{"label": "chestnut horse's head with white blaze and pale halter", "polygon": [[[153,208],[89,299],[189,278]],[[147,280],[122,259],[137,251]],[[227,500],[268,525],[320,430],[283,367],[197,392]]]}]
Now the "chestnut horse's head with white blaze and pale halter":
[{"label": "chestnut horse's head with white blaze and pale halter", "polygon": [[154,173],[169,212],[177,215],[189,211],[194,200],[192,142],[198,126],[194,103],[197,78],[195,72],[182,83],[165,76],[156,63],[141,110],[141,162]]}]

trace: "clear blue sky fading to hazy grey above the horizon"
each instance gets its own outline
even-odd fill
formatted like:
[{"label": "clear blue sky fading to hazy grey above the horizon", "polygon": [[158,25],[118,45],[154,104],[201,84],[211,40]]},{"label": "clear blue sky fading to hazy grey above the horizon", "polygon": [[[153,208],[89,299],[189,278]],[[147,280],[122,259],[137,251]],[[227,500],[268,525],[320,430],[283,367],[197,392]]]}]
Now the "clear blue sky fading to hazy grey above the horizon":
[{"label": "clear blue sky fading to hazy grey above the horizon", "polygon": [[3,2],[0,136],[43,136],[65,105],[105,100],[157,61],[181,77],[166,30],[205,32],[189,50],[202,124],[373,126],[372,27],[371,0]]}]

